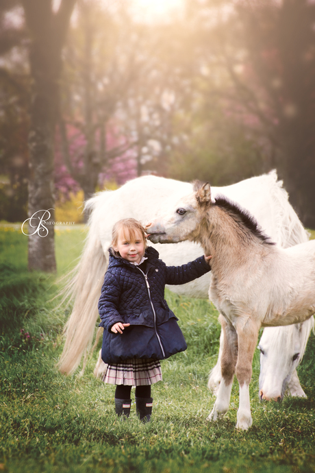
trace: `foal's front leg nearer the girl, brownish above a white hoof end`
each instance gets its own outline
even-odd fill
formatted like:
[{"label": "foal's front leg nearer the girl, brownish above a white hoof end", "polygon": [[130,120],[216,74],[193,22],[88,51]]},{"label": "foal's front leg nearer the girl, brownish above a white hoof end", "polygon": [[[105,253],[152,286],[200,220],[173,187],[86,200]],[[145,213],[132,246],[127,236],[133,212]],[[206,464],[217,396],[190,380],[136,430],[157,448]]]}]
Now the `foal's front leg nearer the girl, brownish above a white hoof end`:
[{"label": "foal's front leg nearer the girl, brownish above a white hoof end", "polygon": [[207,420],[217,420],[218,416],[224,415],[229,409],[229,399],[238,359],[238,337],[234,326],[228,324],[222,315],[220,315],[220,324],[224,333],[221,356],[222,380],[218,388],[216,402],[214,402],[214,407]]}]

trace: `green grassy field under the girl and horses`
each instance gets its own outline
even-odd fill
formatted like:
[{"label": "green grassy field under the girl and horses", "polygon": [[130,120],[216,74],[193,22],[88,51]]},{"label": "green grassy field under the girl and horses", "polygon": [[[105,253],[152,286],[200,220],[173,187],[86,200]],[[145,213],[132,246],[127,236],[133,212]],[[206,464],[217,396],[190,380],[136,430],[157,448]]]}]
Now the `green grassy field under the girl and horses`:
[{"label": "green grassy field under the girl and horses", "polygon": [[[75,264],[84,231],[56,232],[58,274]],[[206,300],[167,293],[188,350],[162,362],[163,383],[153,386],[150,424],[114,415],[114,387],[92,375],[65,377],[55,368],[69,309],[55,309],[54,276],[27,274],[27,237],[0,229],[0,471],[201,473],[315,472],[315,337],[299,376],[307,400],[258,400],[259,356],[253,361],[253,426],[238,432],[235,382],[231,409],[205,421],[214,404],[207,374],[216,363],[220,328]],[[134,393],[133,395],[134,396]]]}]

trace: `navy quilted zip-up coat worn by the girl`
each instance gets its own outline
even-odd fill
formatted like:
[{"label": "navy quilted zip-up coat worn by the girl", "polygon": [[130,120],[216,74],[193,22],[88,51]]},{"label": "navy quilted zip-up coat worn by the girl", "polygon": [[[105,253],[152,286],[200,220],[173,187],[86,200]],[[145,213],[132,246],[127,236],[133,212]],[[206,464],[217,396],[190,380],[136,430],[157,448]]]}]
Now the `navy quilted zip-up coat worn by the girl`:
[{"label": "navy quilted zip-up coat worn by the girl", "polygon": [[[166,266],[153,247],[148,247],[146,274],[110,250],[99,298],[100,327],[104,328],[102,359],[119,363],[132,358],[165,359],[186,350],[177,317],[164,300],[165,284],[184,284],[210,271],[201,256],[182,266]],[[130,324],[123,333],[113,333],[116,322]]]}]

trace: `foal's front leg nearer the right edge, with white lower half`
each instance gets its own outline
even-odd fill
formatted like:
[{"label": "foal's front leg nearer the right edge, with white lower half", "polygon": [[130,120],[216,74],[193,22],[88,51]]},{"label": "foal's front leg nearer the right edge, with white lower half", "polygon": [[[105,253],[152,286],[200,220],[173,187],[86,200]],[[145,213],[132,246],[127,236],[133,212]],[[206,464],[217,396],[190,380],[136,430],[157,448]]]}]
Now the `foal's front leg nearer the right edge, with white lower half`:
[{"label": "foal's front leg nearer the right edge, with white lower half", "polygon": [[236,325],[238,332],[238,363],[236,364],[236,377],[240,385],[240,405],[238,407],[236,428],[247,430],[253,424],[251,418],[251,402],[249,399],[249,383],[253,371],[253,354],[257,345],[260,325],[251,318],[246,324],[240,321]]}]

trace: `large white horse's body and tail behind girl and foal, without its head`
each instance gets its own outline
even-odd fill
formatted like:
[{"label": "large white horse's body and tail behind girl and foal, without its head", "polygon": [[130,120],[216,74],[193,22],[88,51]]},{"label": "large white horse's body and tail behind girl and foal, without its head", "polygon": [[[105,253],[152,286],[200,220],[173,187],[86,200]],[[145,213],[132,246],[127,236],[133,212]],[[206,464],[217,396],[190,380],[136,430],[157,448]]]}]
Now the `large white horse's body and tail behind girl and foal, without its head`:
[{"label": "large white horse's body and tail behind girl and foal, without its head", "polygon": [[[65,328],[66,341],[59,363],[62,372],[73,373],[82,355],[90,352],[99,319],[97,302],[108,265],[108,247],[114,223],[125,217],[134,217],[145,223],[191,191],[192,184],[186,182],[145,176],[127,182],[116,191],[104,191],[88,200],[86,208],[91,210],[90,231],[81,260],[66,288],[74,304]],[[288,194],[282,189],[281,182],[277,182],[275,171],[231,186],[212,188],[212,192],[214,195],[226,195],[251,211],[278,245],[289,247],[307,241],[307,234],[288,202]],[[190,242],[157,245],[157,250],[168,265],[188,263],[202,252],[199,245]],[[195,298],[207,298],[210,279],[210,274],[207,274],[169,289]],[[95,375],[98,376],[103,368],[103,362],[99,359]],[[211,387],[218,386],[220,379],[219,359],[210,376]]]}]

